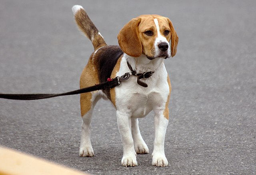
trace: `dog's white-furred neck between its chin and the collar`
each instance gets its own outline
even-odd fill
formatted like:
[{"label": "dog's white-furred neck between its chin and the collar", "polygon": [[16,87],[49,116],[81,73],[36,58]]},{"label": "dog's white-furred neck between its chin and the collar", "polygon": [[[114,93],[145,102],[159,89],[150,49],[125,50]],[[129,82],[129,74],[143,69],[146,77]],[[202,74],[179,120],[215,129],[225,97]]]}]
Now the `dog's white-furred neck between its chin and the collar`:
[{"label": "dog's white-furred neck between its chin and the collar", "polygon": [[125,54],[127,62],[131,65],[132,70],[137,74],[142,74],[144,72],[156,72],[161,64],[164,62],[163,58],[155,58],[149,60],[145,55],[139,57],[131,57]]}]

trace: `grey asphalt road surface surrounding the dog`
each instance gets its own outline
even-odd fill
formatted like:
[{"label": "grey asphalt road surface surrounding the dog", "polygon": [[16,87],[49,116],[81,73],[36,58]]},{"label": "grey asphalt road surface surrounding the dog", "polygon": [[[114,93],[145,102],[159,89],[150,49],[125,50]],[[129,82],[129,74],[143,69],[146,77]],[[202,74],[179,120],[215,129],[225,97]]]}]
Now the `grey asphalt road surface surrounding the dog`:
[{"label": "grey asphalt road surface surrounding the dog", "polygon": [[0,93],[79,88],[93,51],[71,8],[84,6],[108,44],[140,14],[169,17],[179,36],[165,61],[172,83],[165,151],[153,167],[153,114],[140,119],[150,154],[121,167],[116,112],[100,101],[92,121],[95,156],[78,157],[79,95],[38,101],[0,99],[0,145],[91,174],[256,173],[256,1],[22,0],[0,2]]}]

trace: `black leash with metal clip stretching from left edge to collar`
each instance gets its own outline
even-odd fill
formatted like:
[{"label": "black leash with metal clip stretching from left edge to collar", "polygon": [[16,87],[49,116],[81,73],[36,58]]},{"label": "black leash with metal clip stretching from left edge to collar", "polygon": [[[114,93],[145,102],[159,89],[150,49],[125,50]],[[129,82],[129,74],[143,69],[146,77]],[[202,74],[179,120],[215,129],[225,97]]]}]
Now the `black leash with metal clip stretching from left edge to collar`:
[{"label": "black leash with metal clip stretching from left edge to collar", "polygon": [[119,86],[122,81],[128,80],[130,73],[125,73],[121,77],[116,77],[114,79],[108,79],[107,82],[102,84],[96,84],[95,86],[85,87],[83,89],[78,89],[75,91],[70,91],[66,93],[32,93],[32,94],[4,94],[0,93],[0,98],[4,99],[15,99],[15,100],[36,100],[36,99],[46,99],[64,95],[75,95],[80,93],[86,93],[96,90],[110,89]]}]

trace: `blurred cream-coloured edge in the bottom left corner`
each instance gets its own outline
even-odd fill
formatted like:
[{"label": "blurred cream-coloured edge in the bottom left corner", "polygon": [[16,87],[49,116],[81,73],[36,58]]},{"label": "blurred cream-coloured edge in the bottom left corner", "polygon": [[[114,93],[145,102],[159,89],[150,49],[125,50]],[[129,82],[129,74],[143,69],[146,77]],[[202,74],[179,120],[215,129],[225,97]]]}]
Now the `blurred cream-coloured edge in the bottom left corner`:
[{"label": "blurred cream-coloured edge in the bottom left corner", "polygon": [[50,161],[0,147],[0,175],[86,175]]}]

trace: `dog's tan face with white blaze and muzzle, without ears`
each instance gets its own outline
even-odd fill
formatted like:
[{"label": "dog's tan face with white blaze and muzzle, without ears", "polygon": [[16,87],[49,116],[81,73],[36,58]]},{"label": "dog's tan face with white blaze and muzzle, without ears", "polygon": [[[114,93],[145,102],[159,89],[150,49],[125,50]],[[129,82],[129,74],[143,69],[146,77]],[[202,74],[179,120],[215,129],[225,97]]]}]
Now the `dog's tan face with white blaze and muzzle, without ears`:
[{"label": "dog's tan face with white blaze and muzzle, without ears", "polygon": [[140,18],[138,33],[142,53],[150,60],[158,57],[169,58],[171,32],[167,18],[156,15],[151,18],[145,16],[140,16]]}]

